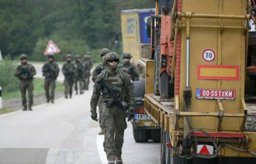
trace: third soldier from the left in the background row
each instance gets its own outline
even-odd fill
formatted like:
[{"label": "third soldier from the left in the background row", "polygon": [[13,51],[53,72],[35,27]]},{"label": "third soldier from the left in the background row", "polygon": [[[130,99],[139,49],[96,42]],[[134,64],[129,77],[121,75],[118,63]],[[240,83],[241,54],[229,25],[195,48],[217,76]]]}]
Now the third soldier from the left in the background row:
[{"label": "third soldier from the left in the background row", "polygon": [[73,64],[72,61],[72,55],[67,54],[66,55],[66,63],[62,67],[62,72],[65,76],[64,85],[65,85],[65,98],[69,97],[72,98],[72,91],[73,91],[73,84],[74,84],[74,78],[76,74],[76,67],[75,64]]}]

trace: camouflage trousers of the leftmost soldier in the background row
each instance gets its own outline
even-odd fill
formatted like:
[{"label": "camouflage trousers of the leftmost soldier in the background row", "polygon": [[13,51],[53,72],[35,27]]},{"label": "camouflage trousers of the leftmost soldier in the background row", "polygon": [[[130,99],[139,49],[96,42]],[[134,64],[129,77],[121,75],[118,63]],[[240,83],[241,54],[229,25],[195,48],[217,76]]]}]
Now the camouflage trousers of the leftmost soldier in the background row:
[{"label": "camouflage trousers of the leftmost soldier in the background row", "polygon": [[19,90],[22,94],[22,105],[27,106],[27,98],[26,98],[26,92],[28,91],[28,106],[33,105],[33,80],[20,80],[19,83]]}]

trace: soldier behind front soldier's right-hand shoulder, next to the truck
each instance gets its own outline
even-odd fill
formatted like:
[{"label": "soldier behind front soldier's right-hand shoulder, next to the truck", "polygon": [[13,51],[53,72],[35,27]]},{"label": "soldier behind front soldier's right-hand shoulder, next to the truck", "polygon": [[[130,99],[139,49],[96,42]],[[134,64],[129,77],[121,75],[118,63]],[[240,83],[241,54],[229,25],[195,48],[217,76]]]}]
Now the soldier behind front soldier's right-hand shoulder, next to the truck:
[{"label": "soldier behind front soldier's right-hand shoulder, next to the truck", "polygon": [[132,56],[129,53],[123,54],[123,65],[122,67],[126,69],[127,73],[130,75],[131,80],[139,80],[139,74],[137,68],[130,62]]}]

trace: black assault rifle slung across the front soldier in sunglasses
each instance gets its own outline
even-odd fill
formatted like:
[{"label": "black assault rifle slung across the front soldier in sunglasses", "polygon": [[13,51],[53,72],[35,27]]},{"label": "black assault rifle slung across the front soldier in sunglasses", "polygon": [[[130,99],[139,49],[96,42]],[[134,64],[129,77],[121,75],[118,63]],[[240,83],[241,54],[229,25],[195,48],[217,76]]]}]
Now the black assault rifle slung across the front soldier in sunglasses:
[{"label": "black assault rifle slung across the front soldier in sunglasses", "polygon": [[[112,97],[112,99],[107,103],[107,107],[110,107],[113,103],[117,104],[124,112],[126,117],[129,116],[129,114],[127,113],[125,106],[123,105],[125,102],[122,102],[120,100],[120,98],[118,97],[117,93],[115,92],[114,89],[110,88],[109,85],[106,83],[106,80],[102,79],[97,81],[98,84],[101,85],[101,87],[106,88],[108,94],[110,94],[110,96]],[[131,120],[130,120],[131,124],[134,124]]]}]

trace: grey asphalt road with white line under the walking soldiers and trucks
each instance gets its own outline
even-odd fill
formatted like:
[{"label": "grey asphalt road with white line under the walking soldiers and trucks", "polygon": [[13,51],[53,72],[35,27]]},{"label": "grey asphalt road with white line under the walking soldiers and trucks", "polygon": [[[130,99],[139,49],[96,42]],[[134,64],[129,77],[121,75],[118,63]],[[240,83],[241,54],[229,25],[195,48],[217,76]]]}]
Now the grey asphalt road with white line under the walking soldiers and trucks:
[{"label": "grey asphalt road with white line under the walking soldiers and trucks", "polygon": [[[0,163],[106,163],[104,136],[97,135],[98,122],[90,119],[91,94],[92,83],[72,99],[0,115]],[[135,143],[128,125],[124,163],[160,163],[160,145]]]}]

